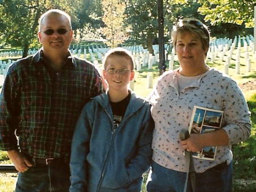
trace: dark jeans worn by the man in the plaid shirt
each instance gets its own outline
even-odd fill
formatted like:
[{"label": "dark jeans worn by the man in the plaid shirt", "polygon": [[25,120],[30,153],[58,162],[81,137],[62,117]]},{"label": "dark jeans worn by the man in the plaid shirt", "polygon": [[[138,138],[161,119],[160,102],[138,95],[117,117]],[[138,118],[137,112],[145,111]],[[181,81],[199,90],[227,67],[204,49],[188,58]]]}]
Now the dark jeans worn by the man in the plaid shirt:
[{"label": "dark jeans worn by the man in the plaid shirt", "polygon": [[19,173],[16,192],[68,192],[69,166],[32,166]]}]

